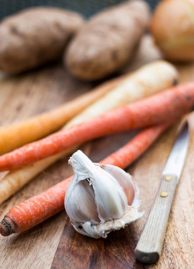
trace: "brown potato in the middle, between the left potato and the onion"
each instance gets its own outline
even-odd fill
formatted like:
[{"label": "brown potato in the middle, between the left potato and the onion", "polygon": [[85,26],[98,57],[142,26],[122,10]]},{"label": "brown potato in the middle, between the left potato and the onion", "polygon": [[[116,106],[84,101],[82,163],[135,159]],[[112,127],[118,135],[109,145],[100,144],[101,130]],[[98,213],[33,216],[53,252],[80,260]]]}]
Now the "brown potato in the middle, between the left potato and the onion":
[{"label": "brown potato in the middle, between the left potato and the onion", "polygon": [[93,16],[64,54],[69,72],[83,80],[101,79],[128,61],[148,25],[149,7],[128,1]]}]

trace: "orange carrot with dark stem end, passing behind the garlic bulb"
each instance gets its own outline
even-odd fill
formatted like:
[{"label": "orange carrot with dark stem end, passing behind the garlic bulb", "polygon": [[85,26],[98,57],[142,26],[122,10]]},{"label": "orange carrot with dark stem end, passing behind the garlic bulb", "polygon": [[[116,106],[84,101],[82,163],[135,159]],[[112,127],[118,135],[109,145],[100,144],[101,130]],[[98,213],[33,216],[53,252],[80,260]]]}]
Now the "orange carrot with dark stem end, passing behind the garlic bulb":
[{"label": "orange carrot with dark stem end, passing behind the garlic bulb", "polygon": [[[141,131],[121,149],[103,159],[101,163],[126,168],[140,156],[169,126],[165,123]],[[50,189],[36,195],[8,211],[0,223],[4,236],[25,231],[64,209],[65,192],[72,177],[59,182]]]}]

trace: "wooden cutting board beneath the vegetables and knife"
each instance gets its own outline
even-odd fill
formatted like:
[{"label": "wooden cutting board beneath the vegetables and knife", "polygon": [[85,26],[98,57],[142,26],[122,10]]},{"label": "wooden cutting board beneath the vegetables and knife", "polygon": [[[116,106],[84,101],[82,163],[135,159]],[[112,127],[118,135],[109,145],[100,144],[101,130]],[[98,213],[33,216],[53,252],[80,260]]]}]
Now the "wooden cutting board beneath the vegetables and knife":
[{"label": "wooden cutting board beneath the vegetables and knife", "polygon": [[[135,70],[157,58],[159,53],[151,38],[146,36],[122,73]],[[194,64],[177,68],[181,82],[194,80]],[[94,86],[92,83],[75,80],[61,65],[48,66],[16,77],[6,78],[2,74],[0,80],[1,126],[52,109]],[[145,265],[136,261],[134,250],[159,188],[161,171],[179,122],[127,169],[140,188],[140,210],[145,211],[141,219],[125,229],[112,232],[106,239],[95,240],[76,233],[65,211],[60,212],[28,231],[9,237],[1,236],[0,268],[194,268],[194,113],[189,115],[189,124],[189,152],[172,206],[162,255],[156,264]],[[131,131],[107,136],[87,143],[81,149],[92,161],[98,162],[128,142],[135,133],[136,131]],[[70,176],[72,169],[67,165],[68,158],[69,156],[42,171],[4,202],[0,206],[0,218],[9,208]]]}]

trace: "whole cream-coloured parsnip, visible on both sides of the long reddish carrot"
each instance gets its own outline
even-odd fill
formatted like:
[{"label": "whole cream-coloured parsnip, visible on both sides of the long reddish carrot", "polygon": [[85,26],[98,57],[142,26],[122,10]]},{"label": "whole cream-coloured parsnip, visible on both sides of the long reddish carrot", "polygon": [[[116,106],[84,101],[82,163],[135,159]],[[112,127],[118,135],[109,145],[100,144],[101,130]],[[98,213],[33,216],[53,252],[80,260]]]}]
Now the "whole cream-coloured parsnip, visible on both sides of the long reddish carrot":
[{"label": "whole cream-coloured parsnip, visible on both sides of the long reddish carrot", "polygon": [[[154,92],[171,87],[175,84],[177,79],[178,73],[176,69],[168,62],[156,61],[154,63],[147,64],[130,76],[125,76],[120,80],[116,80],[115,87],[112,86],[110,94],[105,94],[104,97],[99,99],[99,101],[91,104],[91,106],[85,109],[83,113],[79,114],[80,116],[78,115],[69,121],[64,128],[86,121],[89,118],[95,117],[108,110],[122,106],[125,103],[130,103]],[[120,84],[117,84],[118,81],[120,81]],[[66,154],[67,151],[42,159],[41,161],[34,162],[33,166],[26,165],[10,172],[7,176],[5,176],[2,184],[0,184],[0,204],[22,188],[22,186],[28,183],[39,172],[46,169]],[[18,183],[19,178],[20,183]],[[4,187],[4,185],[6,185],[6,187]]]}]

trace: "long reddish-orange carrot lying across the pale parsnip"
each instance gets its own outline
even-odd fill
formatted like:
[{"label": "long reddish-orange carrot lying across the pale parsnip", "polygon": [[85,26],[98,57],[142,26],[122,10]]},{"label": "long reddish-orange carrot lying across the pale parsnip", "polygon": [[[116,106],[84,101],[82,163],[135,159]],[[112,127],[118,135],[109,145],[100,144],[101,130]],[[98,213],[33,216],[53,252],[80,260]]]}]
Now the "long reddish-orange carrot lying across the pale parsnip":
[{"label": "long reddish-orange carrot lying across the pale parsnip", "polygon": [[193,110],[193,107],[194,82],[172,87],[2,155],[0,171],[24,166],[111,133],[174,120]]}]

